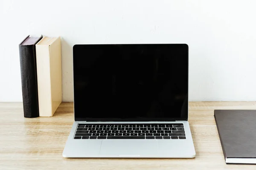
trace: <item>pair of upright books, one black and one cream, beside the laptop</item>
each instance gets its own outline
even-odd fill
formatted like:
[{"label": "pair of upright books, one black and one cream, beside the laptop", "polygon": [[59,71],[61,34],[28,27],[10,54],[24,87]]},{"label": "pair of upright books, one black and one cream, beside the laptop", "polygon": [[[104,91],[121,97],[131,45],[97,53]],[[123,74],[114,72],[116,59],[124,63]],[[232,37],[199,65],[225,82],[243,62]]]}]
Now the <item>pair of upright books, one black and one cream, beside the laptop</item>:
[{"label": "pair of upright books, one black and one cream, beside the laptop", "polygon": [[53,116],[62,101],[60,37],[27,36],[19,51],[24,117]]}]

